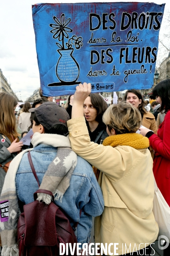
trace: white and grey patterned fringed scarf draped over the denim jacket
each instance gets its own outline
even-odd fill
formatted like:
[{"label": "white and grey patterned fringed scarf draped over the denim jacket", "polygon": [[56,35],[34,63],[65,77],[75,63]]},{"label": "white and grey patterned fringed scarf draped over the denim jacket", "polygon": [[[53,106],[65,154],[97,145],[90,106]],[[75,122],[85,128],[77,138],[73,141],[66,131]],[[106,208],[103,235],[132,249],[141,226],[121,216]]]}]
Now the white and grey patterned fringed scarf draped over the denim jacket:
[{"label": "white and grey patterned fringed scarf draped over the denim jacket", "polygon": [[[38,144],[58,147],[57,155],[49,164],[48,170],[45,172],[45,175],[42,179],[40,189],[50,190],[53,192],[55,200],[61,201],[62,196],[70,185],[71,175],[75,166],[77,165],[77,155],[71,149],[69,138],[57,134],[40,134],[36,132],[33,135],[31,143],[34,147],[36,147]],[[15,176],[23,154],[28,151],[29,149],[22,151],[12,160],[6,174],[2,193],[0,196],[0,201],[8,200],[9,203],[8,221],[0,222],[0,236],[3,244],[1,254],[2,256],[19,255],[16,233],[20,209],[17,201]],[[42,200],[45,201],[46,204],[49,204],[51,202],[51,196],[39,193],[37,200]]]}]

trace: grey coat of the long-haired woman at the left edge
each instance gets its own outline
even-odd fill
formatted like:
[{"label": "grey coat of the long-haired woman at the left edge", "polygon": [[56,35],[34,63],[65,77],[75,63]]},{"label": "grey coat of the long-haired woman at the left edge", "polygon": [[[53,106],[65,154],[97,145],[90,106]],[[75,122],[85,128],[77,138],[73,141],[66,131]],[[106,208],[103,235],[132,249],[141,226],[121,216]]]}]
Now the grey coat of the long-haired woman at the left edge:
[{"label": "grey coat of the long-haired woman at the left edge", "polygon": [[[2,134],[0,134],[0,163],[4,165],[11,161],[17,155],[17,152],[11,154],[7,149],[11,145],[11,141],[8,139],[8,137],[6,137],[5,142],[2,143],[2,139],[3,136]],[[5,176],[6,172],[2,168],[0,168],[0,194],[3,188]]]}]

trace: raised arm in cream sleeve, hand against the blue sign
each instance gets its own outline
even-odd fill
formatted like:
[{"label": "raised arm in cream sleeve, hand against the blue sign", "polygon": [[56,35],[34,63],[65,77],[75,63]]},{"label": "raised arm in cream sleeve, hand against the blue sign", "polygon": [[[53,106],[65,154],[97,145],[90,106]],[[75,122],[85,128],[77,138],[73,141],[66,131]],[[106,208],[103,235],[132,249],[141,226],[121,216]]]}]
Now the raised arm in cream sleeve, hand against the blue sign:
[{"label": "raised arm in cream sleeve, hand against the blue sign", "polygon": [[126,166],[128,164],[133,166],[137,159],[134,159],[130,147],[124,150],[90,141],[83,114],[83,102],[89,95],[90,88],[90,84],[81,84],[74,94],[72,119],[67,122],[71,148],[91,165],[107,174],[112,181],[119,180],[125,174]]}]

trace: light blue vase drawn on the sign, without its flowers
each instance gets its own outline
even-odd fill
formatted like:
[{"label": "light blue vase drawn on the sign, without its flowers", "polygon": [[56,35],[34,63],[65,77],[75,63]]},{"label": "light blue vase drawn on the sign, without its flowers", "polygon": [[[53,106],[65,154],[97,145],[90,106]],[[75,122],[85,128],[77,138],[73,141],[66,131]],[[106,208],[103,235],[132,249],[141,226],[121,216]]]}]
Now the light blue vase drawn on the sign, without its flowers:
[{"label": "light blue vase drawn on the sign, without its flowers", "polygon": [[61,82],[75,82],[79,77],[79,64],[72,56],[74,49],[58,49],[61,55],[56,66],[56,75]]}]

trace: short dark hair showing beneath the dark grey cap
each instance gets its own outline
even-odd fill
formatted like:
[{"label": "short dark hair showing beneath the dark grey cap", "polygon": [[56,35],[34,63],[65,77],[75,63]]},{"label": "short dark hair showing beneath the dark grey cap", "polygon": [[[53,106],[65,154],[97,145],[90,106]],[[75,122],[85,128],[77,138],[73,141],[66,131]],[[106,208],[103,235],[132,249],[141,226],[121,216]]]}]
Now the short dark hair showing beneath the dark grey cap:
[{"label": "short dark hair showing beneath the dark grey cap", "polygon": [[[35,121],[35,125],[40,125],[35,113],[32,113],[32,120]],[[45,134],[59,134],[65,136],[68,134],[68,128],[66,128],[65,125],[53,125],[49,130],[44,127],[44,132]]]}]

